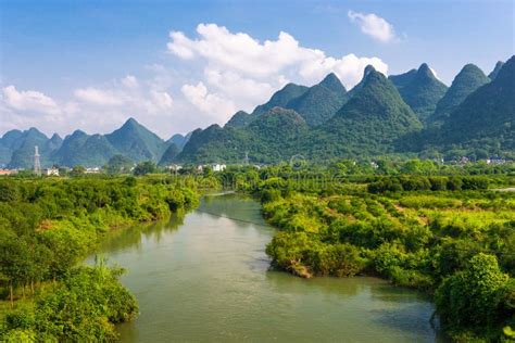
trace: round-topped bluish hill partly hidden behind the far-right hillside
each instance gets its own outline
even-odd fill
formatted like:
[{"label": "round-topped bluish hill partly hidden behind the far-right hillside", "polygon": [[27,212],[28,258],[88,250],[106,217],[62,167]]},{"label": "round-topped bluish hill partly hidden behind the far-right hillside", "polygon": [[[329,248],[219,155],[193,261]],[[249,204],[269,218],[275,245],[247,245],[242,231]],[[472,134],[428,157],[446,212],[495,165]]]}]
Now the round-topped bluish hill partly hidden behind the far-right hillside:
[{"label": "round-topped bluish hill partly hidden behind the far-right hillside", "polygon": [[442,124],[468,94],[488,82],[490,82],[490,79],[479,67],[474,64],[465,65],[452,81],[445,96],[438,102],[435,113],[428,118],[428,123]]}]

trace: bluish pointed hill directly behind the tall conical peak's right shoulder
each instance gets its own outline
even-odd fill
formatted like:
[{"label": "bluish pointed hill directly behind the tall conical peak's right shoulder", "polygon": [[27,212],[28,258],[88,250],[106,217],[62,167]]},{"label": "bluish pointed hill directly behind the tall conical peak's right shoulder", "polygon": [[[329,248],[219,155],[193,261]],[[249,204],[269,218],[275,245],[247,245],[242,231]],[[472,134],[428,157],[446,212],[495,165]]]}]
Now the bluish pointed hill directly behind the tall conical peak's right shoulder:
[{"label": "bluish pointed hill directly behind the tall conical peak's right shoulder", "polygon": [[[447,86],[438,80],[426,63],[423,63],[416,74],[391,76],[397,81],[402,99],[407,103],[420,122],[425,122],[436,110],[437,103],[443,98]],[[401,82],[399,82],[401,79]]]}]

